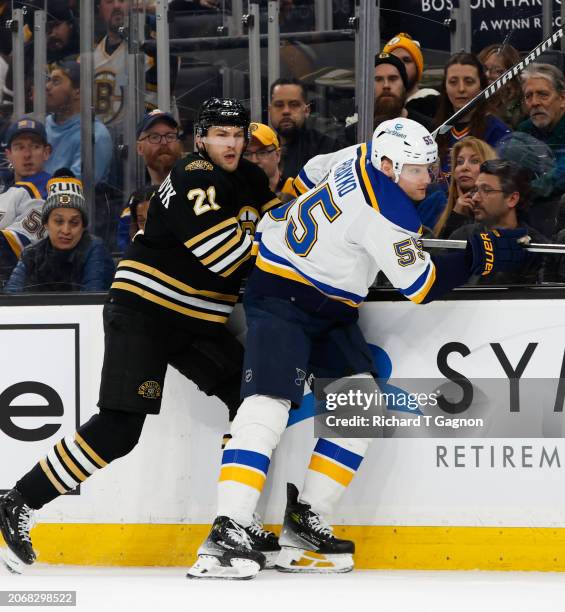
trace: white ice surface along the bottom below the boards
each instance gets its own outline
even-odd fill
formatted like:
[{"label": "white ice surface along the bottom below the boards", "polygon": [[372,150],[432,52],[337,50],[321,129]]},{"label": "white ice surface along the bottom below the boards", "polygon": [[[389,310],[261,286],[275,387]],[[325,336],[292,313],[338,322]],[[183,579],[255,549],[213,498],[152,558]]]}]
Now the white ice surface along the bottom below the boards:
[{"label": "white ice surface along the bottom below the boards", "polygon": [[185,573],[185,568],[37,564],[24,576],[0,570],[0,590],[76,590],[74,609],[81,612],[545,612],[563,609],[565,601],[565,575],[557,573],[355,571],[297,576],[270,570],[238,582],[188,580]]}]

